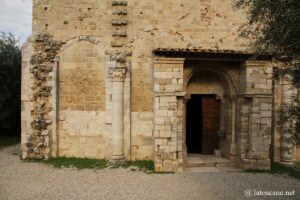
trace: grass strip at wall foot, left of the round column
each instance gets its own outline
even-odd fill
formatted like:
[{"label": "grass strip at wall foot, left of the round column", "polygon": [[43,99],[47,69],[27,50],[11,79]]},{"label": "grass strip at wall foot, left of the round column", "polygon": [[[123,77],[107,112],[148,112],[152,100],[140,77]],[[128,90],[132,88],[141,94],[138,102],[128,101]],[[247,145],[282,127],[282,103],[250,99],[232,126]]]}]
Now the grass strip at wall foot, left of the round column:
[{"label": "grass strip at wall foot, left of the round column", "polygon": [[44,163],[55,168],[74,167],[76,169],[104,169],[108,166],[106,160],[88,158],[50,158],[49,160],[26,159],[26,161]]}]

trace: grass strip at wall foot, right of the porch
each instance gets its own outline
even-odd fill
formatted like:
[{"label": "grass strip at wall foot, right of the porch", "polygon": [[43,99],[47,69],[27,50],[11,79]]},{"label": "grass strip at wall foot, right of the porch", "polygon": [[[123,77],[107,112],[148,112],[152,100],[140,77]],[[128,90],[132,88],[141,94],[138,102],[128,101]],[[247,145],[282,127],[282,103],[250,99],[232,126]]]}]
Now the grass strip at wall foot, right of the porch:
[{"label": "grass strip at wall foot, right of the porch", "polygon": [[295,166],[273,163],[270,170],[248,169],[246,172],[288,175],[300,181],[300,163],[297,163]]}]

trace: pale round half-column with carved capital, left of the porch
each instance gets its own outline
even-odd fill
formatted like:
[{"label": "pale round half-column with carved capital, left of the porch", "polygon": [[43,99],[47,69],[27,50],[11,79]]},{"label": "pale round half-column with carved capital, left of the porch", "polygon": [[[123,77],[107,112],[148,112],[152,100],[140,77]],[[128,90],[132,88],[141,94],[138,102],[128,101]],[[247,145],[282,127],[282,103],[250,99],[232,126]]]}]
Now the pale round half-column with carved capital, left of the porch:
[{"label": "pale round half-column with carved capital, left of the porch", "polygon": [[124,82],[126,68],[113,68],[112,76],[112,163],[123,163],[124,157]]}]

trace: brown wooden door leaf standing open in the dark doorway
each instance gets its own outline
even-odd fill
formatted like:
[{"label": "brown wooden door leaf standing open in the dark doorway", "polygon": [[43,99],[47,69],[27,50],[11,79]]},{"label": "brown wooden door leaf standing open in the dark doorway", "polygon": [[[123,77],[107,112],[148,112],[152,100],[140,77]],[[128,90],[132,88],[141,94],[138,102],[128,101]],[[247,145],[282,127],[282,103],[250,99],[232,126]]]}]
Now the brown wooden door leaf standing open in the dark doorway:
[{"label": "brown wooden door leaf standing open in the dark doorway", "polygon": [[202,117],[202,153],[213,154],[219,148],[219,101],[215,96],[203,96]]}]

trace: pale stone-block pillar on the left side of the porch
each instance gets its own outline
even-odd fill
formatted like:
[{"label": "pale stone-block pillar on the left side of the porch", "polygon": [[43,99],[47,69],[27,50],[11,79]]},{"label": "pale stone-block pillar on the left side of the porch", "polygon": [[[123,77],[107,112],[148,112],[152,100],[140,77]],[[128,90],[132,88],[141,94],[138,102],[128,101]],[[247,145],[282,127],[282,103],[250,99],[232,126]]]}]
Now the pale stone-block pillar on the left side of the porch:
[{"label": "pale stone-block pillar on the left side of the porch", "polygon": [[183,59],[154,60],[154,160],[156,171],[182,171]]}]

